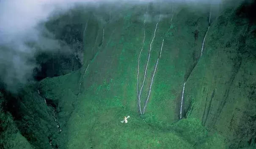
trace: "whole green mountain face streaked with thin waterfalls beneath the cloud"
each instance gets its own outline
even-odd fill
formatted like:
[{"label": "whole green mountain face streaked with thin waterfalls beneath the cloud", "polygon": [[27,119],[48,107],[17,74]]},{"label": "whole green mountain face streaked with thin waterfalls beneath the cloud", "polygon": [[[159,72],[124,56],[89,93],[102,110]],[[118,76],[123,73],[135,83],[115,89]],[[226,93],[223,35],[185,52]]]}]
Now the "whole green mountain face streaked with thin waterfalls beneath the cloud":
[{"label": "whole green mountain face streaked with thin waterfalls beneath the cloud", "polygon": [[255,148],[253,8],[218,8],[102,4],[53,18],[57,38],[83,42],[83,66],[23,89],[15,127],[44,149]]}]

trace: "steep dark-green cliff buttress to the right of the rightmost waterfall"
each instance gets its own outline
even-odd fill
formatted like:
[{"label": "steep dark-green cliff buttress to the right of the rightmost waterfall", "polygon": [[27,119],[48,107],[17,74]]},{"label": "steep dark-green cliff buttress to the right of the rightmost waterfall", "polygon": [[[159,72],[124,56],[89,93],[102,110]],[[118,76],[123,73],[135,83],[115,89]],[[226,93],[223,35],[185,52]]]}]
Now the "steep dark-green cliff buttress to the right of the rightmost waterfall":
[{"label": "steep dark-green cliff buttress to the right of the rightmost waterfall", "polygon": [[186,84],[187,118],[225,136],[230,148],[256,143],[253,9],[245,4],[220,14]]}]

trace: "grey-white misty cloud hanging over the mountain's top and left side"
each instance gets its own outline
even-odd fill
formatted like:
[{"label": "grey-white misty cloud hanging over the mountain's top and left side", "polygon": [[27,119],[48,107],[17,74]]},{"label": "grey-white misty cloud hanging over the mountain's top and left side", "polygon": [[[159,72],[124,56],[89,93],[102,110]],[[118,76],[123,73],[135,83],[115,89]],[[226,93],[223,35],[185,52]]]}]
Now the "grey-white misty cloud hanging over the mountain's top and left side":
[{"label": "grey-white misty cloud hanging over the mountain's top and left side", "polygon": [[[156,0],[116,0],[118,4],[151,1]],[[97,8],[102,2],[115,0],[0,0],[0,81],[12,89],[18,84],[25,84],[36,67],[33,62],[35,53],[39,49],[54,51],[60,48],[58,40],[47,29],[39,26],[53,12],[65,12],[77,4],[94,5]],[[42,32],[47,36],[42,36]],[[29,42],[36,43],[39,48],[29,46]]]}]

